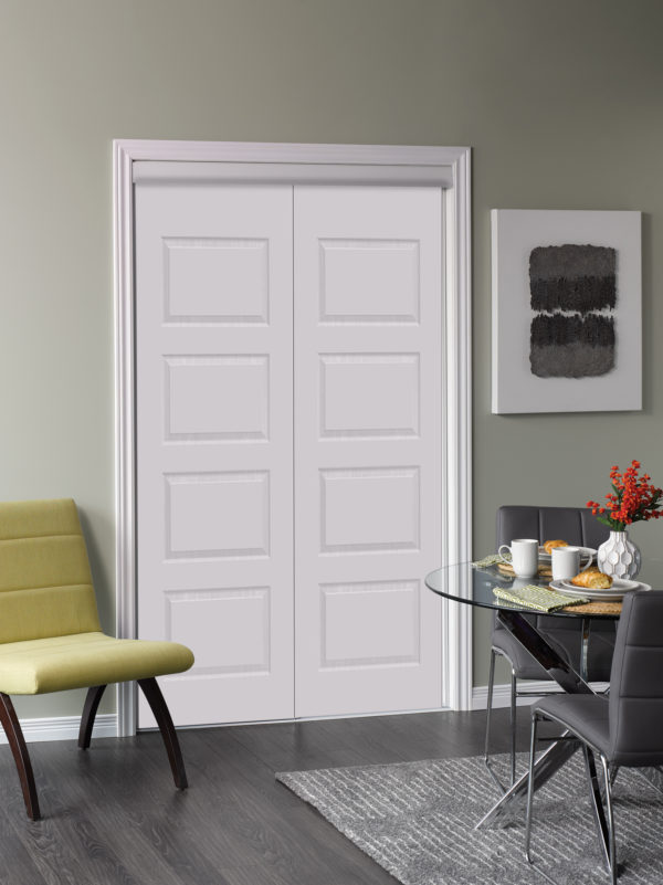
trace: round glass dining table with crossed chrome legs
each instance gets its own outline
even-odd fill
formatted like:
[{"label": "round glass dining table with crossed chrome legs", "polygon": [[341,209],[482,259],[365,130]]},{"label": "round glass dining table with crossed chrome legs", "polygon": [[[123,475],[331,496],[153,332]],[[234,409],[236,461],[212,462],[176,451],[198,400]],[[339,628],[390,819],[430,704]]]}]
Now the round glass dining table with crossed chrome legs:
[{"label": "round glass dining table with crossed chrome legs", "polygon": [[[638,581],[644,584],[643,589],[663,588],[663,560],[649,560],[643,563]],[[425,578],[427,587],[440,597],[459,602],[463,605],[473,605],[480,609],[493,609],[497,620],[505,626],[532,656],[547,671],[554,679],[568,694],[594,693],[587,682],[587,650],[591,641],[591,623],[594,619],[613,621],[617,628],[620,607],[603,605],[592,602],[589,605],[572,605],[554,612],[535,611],[532,608],[501,599],[493,592],[495,588],[505,590],[517,589],[525,583],[547,586],[547,579],[534,578],[525,580],[505,575],[497,566],[480,568],[472,562],[459,562],[435,569]],[[526,615],[546,614],[546,617],[580,619],[582,621],[582,653],[579,672],[560,656],[558,651],[546,640],[543,632],[536,629],[533,618]],[[552,775],[580,749],[579,741],[569,733],[562,734],[557,740],[538,757],[534,768],[534,789],[538,790]],[[588,773],[593,786],[593,813],[599,835],[606,847],[608,845],[608,830],[600,798],[596,763],[591,751],[586,754]],[[661,773],[652,772],[652,781],[657,784]],[[486,814],[478,821],[475,829],[487,825],[506,825],[514,820],[523,819],[525,799],[527,796],[528,775],[525,773],[514,786],[493,804]]]}]

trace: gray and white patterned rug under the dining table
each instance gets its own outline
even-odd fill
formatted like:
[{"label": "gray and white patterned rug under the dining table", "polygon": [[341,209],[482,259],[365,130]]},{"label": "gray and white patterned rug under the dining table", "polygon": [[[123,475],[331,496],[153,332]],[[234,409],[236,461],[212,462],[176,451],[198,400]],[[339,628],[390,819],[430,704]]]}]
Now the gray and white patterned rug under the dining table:
[{"label": "gray and white patterned rug under the dining table", "polygon": [[[508,757],[494,758],[506,779]],[[276,779],[403,885],[609,882],[580,752],[535,793],[534,866],[524,854],[524,809],[506,828],[474,829],[499,797],[480,757],[288,771]],[[622,769],[613,797],[620,885],[661,885],[663,794]]]}]

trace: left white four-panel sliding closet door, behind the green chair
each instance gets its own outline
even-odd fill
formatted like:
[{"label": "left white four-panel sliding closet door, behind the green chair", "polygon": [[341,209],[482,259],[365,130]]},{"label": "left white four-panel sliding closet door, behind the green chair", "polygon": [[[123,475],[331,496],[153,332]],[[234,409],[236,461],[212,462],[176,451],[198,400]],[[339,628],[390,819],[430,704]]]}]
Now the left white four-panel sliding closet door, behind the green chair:
[{"label": "left white four-panel sliding closet door, behind the green chair", "polygon": [[135,206],[138,635],[196,655],[160,679],[176,725],[291,718],[293,190]]}]

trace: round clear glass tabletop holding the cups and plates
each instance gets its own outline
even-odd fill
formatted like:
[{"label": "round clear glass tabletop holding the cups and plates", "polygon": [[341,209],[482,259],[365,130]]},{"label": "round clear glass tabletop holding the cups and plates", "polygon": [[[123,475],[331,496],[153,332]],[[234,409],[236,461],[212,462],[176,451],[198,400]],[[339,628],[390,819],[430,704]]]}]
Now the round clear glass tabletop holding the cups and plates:
[{"label": "round clear glass tabletop holding the cups and plates", "polygon": [[[648,560],[634,580],[645,583],[646,587],[644,589],[663,587],[663,560]],[[480,568],[473,566],[472,562],[457,562],[454,566],[445,566],[435,569],[435,571],[431,571],[431,573],[425,577],[425,586],[434,593],[470,605],[478,605],[483,609],[511,609],[512,611],[523,611],[529,614],[546,614],[556,618],[587,618],[586,611],[579,612],[572,609],[540,612],[527,605],[499,599],[493,592],[496,587],[508,590],[517,589],[528,583],[547,587],[548,579],[515,578],[502,573],[497,569],[497,566]],[[619,613],[603,614],[592,612],[591,617],[615,620],[619,618]]]}]

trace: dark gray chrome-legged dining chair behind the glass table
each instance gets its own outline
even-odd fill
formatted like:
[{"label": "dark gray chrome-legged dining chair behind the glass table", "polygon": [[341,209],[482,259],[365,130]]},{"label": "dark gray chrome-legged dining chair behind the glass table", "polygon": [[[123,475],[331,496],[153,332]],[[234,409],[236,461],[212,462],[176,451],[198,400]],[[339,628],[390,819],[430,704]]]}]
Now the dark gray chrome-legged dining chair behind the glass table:
[{"label": "dark gray chrome-legged dining chair behind the glass table", "polygon": [[[528,507],[505,505],[497,509],[496,547],[511,544],[514,538],[561,539],[580,547],[598,548],[609,536],[609,528],[598,521],[586,507]],[[548,642],[562,657],[580,672],[582,654],[582,621],[552,615],[530,615],[536,629],[544,633]],[[591,642],[587,662],[587,676],[591,682],[607,682],[610,678],[612,650],[614,647],[614,623],[594,619],[591,623]],[[519,679],[546,681],[551,683],[548,673],[533,660],[508,630],[502,626],[496,614],[493,618],[491,636],[491,664],[488,670],[488,696],[486,709],[486,735],[484,761],[497,784],[503,788],[491,766],[491,714],[493,708],[493,687],[495,682],[495,660],[504,657],[511,668],[511,786],[516,780],[516,704],[518,697],[541,694],[520,689]],[[557,685],[551,691],[559,691]],[[504,789],[504,788],[503,788]]]}]

